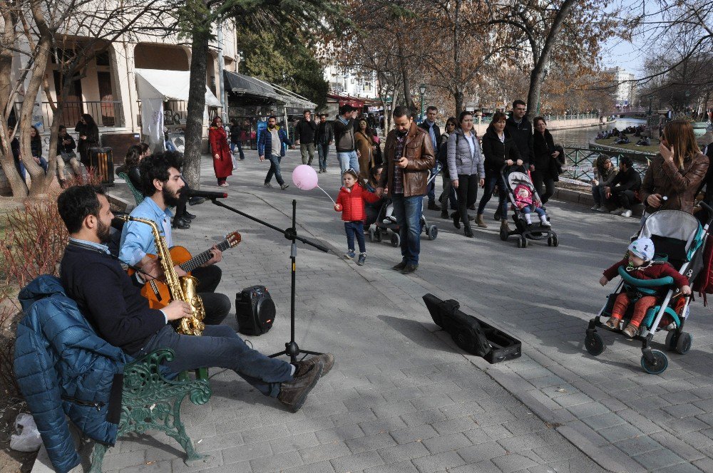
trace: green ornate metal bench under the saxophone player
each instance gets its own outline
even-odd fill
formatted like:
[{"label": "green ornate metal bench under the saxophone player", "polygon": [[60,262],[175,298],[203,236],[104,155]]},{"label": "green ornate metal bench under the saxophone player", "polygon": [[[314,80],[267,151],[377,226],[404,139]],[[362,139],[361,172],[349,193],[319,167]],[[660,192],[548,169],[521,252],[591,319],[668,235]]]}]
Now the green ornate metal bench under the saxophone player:
[{"label": "green ornate metal bench under the saxophone player", "polygon": [[[191,462],[204,456],[195,451],[193,442],[185,432],[180,420],[180,405],[186,396],[193,404],[205,404],[212,390],[207,379],[188,380],[185,375],[177,380],[165,378],[159,367],[164,361],[173,360],[173,357],[173,350],[161,348],[124,366],[117,439],[129,432],[160,430],[183,447],[185,462]],[[108,448],[108,445],[96,442],[89,473],[101,473]]]}]

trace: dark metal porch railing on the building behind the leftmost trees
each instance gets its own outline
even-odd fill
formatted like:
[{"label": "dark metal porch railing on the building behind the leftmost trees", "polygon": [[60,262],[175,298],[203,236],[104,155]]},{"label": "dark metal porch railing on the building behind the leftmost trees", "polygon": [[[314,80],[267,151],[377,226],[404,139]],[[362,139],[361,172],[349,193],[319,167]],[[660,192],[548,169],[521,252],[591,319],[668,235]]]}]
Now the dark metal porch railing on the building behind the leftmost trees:
[{"label": "dark metal porch railing on the building behind the leftmost trees", "polygon": [[[15,103],[15,113],[20,115],[22,102]],[[116,100],[82,100],[71,101],[62,104],[62,119],[60,125],[74,129],[79,118],[84,113],[92,116],[99,128],[120,127],[123,123],[121,102]],[[52,126],[54,112],[49,102],[35,103],[32,112],[32,123],[41,123],[43,128]]]}]

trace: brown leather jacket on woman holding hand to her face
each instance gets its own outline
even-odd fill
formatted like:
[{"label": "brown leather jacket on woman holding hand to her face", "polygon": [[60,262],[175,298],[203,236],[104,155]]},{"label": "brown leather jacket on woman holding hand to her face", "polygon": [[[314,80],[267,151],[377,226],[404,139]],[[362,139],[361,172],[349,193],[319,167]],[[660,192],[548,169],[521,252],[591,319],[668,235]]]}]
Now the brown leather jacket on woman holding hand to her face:
[{"label": "brown leather jacket on woman holding hand to her face", "polygon": [[[701,187],[707,170],[708,157],[704,154],[684,160],[683,170],[679,170],[672,162],[666,162],[661,155],[656,155],[646,170],[639,193],[646,211],[651,213],[669,209],[692,214],[696,192]],[[646,199],[651,194],[661,194],[668,199],[661,207],[654,209],[646,204]]]}]

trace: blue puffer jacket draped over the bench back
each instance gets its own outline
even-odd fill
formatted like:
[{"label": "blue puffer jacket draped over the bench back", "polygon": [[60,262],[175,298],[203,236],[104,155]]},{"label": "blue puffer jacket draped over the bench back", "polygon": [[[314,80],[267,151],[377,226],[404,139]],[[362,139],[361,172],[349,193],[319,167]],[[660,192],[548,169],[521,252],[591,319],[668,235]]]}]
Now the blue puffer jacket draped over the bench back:
[{"label": "blue puffer jacket draped over the bench back", "polygon": [[114,445],[130,358],[97,336],[56,277],[39,276],[19,299],[15,375],[53,467],[68,472],[80,458],[65,415],[88,437]]}]

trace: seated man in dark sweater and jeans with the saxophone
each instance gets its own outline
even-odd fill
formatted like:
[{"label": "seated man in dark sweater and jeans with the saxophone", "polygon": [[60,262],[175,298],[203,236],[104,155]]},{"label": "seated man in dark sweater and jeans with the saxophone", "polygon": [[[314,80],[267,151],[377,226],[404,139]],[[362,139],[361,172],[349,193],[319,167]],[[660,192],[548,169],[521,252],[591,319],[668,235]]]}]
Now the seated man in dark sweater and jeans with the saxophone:
[{"label": "seated man in dark sweater and jeans with the saxophone", "polygon": [[175,358],[167,365],[174,372],[229,368],[262,394],[277,397],[292,412],[302,407],[320,376],[332,368],[334,357],[329,353],[294,365],[268,358],[249,348],[226,325],[206,326],[202,336],[176,333],[168,322],[190,317],[193,311],[188,303],[178,300],[161,310],[148,306],[135,279],[123,271],[106,246],[113,214],[103,189],[69,187],[58,197],[57,207],[70,236],[61,261],[62,286],[108,343],[135,358],[170,348]]}]

